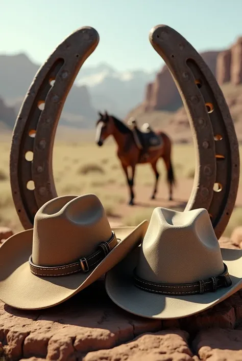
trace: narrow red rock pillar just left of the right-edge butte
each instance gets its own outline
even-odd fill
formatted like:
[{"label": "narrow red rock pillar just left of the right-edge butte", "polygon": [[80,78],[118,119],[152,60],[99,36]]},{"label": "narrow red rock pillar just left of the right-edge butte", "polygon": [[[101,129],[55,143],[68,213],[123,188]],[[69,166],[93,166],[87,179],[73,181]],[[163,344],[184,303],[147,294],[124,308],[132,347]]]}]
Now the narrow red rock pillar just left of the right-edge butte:
[{"label": "narrow red rock pillar just left of the right-edge butte", "polygon": [[230,81],[231,50],[222,51],[217,56],[216,79],[222,85]]}]

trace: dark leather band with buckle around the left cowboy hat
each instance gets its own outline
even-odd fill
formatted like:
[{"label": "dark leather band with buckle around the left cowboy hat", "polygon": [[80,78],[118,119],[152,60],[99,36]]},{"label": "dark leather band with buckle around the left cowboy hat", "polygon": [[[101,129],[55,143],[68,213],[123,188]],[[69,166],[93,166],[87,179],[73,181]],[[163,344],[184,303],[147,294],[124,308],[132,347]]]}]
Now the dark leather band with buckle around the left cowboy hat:
[{"label": "dark leather band with buckle around the left cowboy hat", "polygon": [[54,267],[37,266],[32,261],[32,254],[29,258],[30,270],[33,274],[42,277],[57,277],[77,272],[88,272],[94,266],[97,266],[107,254],[117,245],[115,233],[112,231],[112,236],[107,242],[101,242],[98,249],[88,257],[82,257],[79,261]]}]

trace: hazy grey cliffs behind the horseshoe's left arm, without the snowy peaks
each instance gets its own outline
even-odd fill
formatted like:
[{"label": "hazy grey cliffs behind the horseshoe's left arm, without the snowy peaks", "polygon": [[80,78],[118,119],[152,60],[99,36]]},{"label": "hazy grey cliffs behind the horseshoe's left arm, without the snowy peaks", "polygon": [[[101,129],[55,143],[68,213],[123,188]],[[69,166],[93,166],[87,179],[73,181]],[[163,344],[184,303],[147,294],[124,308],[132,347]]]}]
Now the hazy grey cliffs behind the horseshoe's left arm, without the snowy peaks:
[{"label": "hazy grey cliffs behind the horseshoe's left arm, without the snowy peaks", "polygon": [[[13,107],[9,111],[14,111],[14,116],[7,118],[1,117],[0,113],[0,121],[10,129],[13,128],[16,115],[38,69],[39,65],[25,54],[0,54],[0,94]],[[0,111],[1,109],[0,104]],[[74,84],[67,96],[59,124],[73,128],[93,128],[96,117],[88,88]]]}]

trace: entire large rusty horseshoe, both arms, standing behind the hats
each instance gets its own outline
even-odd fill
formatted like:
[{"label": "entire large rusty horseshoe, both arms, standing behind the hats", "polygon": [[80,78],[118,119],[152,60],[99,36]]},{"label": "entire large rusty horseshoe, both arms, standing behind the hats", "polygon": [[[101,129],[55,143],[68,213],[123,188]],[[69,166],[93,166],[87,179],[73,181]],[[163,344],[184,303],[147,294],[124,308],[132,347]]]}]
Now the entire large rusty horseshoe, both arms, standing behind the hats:
[{"label": "entire large rusty horseshoe, both arms, standing behind the hats", "polygon": [[[172,73],[192,130],[196,172],[186,210],[206,208],[220,238],[239,180],[238,142],[227,103],[202,57],[178,32],[156,26],[150,42]],[[12,137],[10,180],[25,229],[33,227],[39,207],[57,196],[52,168],[56,128],[72,83],[98,43],[99,34],[91,27],[70,34],[39,69],[23,100]],[[26,159],[28,152],[31,160]],[[33,190],[27,188],[29,181]]]}]

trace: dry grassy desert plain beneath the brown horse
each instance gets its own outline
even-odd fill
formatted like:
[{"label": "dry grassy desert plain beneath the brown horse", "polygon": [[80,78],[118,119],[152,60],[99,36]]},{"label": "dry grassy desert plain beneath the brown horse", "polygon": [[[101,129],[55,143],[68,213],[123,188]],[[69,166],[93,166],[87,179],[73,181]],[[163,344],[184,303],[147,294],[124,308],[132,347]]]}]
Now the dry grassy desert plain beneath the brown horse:
[{"label": "dry grassy desert plain beneath the brown horse", "polygon": [[[22,230],[12,200],[9,181],[9,154],[11,133],[0,137],[0,226],[8,226],[14,232]],[[242,146],[240,147],[240,149]],[[110,138],[103,147],[94,143],[94,133],[67,133],[61,128],[57,132],[53,173],[58,195],[98,195],[106,209],[110,223],[114,225],[137,225],[150,219],[154,207],[163,206],[183,210],[189,198],[195,169],[192,144],[174,144],[173,164],[177,179],[174,200],[168,201],[166,172],[162,160],[160,184],[156,200],[151,200],[154,174],[149,164],[138,165],[135,178],[135,206],[128,205],[129,193],[125,176],[116,156],[116,144]],[[241,184],[241,181],[240,181]],[[238,190],[236,207],[230,218],[224,236],[241,224],[242,190]]]}]

